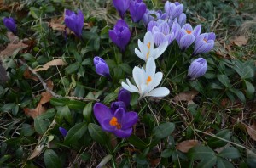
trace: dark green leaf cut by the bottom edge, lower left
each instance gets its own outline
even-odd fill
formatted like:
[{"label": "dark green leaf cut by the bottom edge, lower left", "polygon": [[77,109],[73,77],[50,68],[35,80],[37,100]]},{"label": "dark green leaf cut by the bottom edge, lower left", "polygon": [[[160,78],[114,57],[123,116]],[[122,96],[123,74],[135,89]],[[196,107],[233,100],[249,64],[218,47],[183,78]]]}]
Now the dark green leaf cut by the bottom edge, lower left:
[{"label": "dark green leaf cut by the bottom edge, lower left", "polygon": [[44,163],[46,167],[62,167],[60,157],[52,149],[46,149],[44,152]]}]

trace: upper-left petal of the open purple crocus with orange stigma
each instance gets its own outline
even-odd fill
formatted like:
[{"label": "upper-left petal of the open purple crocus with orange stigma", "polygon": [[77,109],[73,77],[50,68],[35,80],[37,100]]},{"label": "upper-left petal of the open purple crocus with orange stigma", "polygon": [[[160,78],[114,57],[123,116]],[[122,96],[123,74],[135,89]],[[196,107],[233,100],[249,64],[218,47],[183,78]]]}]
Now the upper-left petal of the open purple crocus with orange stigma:
[{"label": "upper-left petal of the open purple crocus with orange stigma", "polygon": [[113,112],[111,109],[101,103],[96,103],[93,107],[94,116],[96,120],[102,125],[102,121],[106,119],[111,119],[113,117]]}]

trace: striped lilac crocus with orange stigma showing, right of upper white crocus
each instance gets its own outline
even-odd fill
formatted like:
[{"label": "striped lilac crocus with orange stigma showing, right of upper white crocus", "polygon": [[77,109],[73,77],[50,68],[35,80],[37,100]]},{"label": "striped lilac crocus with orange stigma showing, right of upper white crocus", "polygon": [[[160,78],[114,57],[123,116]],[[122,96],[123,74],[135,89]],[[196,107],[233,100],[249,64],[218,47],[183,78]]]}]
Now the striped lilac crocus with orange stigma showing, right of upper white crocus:
[{"label": "striped lilac crocus with orange stigma showing, right of upper white crocus", "polygon": [[195,42],[195,38],[199,36],[200,33],[201,25],[197,25],[194,30],[190,24],[183,25],[176,37],[179,48],[182,51],[185,51],[193,42]]}]

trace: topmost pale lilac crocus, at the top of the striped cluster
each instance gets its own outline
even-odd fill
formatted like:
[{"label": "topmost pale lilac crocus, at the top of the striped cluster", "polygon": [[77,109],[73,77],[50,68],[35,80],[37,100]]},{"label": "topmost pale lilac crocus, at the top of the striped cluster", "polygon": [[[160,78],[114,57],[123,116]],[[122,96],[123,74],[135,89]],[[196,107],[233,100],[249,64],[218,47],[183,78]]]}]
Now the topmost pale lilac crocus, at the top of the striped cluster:
[{"label": "topmost pale lilac crocus, at the top of the striped cluster", "polygon": [[178,2],[170,3],[169,1],[166,1],[165,11],[166,14],[172,16],[172,18],[177,18],[180,14],[183,13],[183,4]]}]

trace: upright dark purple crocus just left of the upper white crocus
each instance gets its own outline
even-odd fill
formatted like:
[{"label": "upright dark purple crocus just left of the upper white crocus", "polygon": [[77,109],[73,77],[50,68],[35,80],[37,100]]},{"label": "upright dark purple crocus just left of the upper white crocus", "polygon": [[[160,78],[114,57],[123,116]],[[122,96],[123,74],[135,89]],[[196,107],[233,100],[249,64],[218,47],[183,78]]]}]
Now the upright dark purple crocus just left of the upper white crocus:
[{"label": "upright dark purple crocus just left of the upper white crocus", "polygon": [[108,34],[113,43],[115,43],[121,51],[125,51],[125,46],[131,38],[131,31],[125,20],[118,20],[114,25],[113,30],[108,31]]}]

